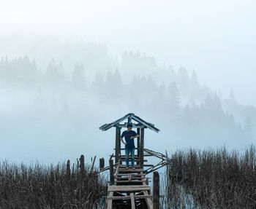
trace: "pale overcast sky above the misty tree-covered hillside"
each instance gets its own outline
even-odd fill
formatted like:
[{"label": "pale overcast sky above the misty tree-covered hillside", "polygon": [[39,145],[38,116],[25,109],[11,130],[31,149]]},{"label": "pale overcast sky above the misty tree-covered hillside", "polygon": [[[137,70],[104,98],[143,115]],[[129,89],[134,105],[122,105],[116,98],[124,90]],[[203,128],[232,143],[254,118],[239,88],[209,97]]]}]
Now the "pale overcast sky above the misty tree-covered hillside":
[{"label": "pale overcast sky above the misty tree-covered hillside", "polygon": [[[68,36],[154,55],[256,106],[256,1],[1,1],[0,34]],[[25,53],[25,52],[24,52]]]}]

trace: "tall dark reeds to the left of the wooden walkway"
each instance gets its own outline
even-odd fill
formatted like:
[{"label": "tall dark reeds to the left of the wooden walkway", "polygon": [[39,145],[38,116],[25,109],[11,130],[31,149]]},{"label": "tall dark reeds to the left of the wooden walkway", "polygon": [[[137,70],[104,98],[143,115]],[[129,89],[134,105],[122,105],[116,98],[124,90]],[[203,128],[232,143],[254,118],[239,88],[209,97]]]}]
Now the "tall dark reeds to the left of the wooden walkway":
[{"label": "tall dark reeds to the left of the wooden walkway", "polygon": [[103,208],[107,180],[90,165],[0,162],[0,208]]}]

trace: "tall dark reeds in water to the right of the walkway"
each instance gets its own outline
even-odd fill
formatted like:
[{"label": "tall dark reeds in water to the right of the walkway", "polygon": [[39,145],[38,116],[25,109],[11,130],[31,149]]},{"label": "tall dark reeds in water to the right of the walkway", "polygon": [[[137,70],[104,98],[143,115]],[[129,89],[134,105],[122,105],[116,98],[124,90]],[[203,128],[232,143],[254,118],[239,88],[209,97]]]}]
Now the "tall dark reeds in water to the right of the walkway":
[{"label": "tall dark reeds in water to the right of the walkway", "polygon": [[189,149],[170,157],[166,208],[256,208],[256,148]]}]

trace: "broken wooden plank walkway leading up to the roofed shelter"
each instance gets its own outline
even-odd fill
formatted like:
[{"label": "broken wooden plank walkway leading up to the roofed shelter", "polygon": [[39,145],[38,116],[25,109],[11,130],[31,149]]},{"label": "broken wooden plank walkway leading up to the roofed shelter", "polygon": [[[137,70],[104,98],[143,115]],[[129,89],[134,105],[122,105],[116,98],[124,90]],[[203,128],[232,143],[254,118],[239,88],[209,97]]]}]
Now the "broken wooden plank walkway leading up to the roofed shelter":
[{"label": "broken wooden plank walkway leading up to the roofed shelter", "polygon": [[108,186],[107,208],[153,208],[151,187],[143,168],[126,169],[118,161],[114,171],[114,184]]}]

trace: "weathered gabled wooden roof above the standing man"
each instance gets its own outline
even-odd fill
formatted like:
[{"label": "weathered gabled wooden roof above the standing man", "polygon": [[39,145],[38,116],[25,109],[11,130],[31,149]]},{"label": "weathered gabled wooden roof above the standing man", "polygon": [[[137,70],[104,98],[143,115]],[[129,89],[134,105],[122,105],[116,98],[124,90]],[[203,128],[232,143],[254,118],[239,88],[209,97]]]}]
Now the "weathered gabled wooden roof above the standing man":
[{"label": "weathered gabled wooden roof above the standing man", "polygon": [[125,115],[124,117],[121,117],[119,119],[117,119],[114,122],[110,122],[108,124],[102,125],[101,127],[99,127],[100,130],[108,130],[110,129],[110,127],[115,127],[116,125],[119,124],[119,122],[122,122],[124,119],[128,119],[130,121],[135,120],[136,122],[140,123],[141,125],[143,125],[144,127],[148,127],[151,130],[154,130],[155,132],[159,132],[160,130],[157,127],[154,127],[154,124],[151,124],[150,122],[146,122],[145,120],[141,119],[140,117],[136,116],[133,113],[129,113],[127,115]]}]

